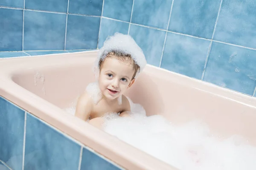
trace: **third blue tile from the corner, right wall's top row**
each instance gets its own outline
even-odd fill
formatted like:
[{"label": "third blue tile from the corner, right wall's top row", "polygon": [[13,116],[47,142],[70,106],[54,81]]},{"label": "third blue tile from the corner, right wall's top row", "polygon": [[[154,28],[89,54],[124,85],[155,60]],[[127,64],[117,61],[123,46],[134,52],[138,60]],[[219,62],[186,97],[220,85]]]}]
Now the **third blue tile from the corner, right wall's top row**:
[{"label": "third blue tile from the corner, right wall's top row", "polygon": [[175,0],[169,31],[212,39],[221,0]]}]

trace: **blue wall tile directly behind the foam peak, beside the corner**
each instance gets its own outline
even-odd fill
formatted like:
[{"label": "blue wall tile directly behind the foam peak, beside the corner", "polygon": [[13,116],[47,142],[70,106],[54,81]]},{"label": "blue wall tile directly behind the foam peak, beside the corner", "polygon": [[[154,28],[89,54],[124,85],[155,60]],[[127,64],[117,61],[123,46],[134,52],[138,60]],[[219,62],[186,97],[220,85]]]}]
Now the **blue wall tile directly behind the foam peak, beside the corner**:
[{"label": "blue wall tile directly behind the foam peak, beside the corner", "polygon": [[102,48],[103,43],[108,36],[112,36],[116,32],[128,34],[128,29],[128,23],[102,18],[99,31],[99,48]]}]

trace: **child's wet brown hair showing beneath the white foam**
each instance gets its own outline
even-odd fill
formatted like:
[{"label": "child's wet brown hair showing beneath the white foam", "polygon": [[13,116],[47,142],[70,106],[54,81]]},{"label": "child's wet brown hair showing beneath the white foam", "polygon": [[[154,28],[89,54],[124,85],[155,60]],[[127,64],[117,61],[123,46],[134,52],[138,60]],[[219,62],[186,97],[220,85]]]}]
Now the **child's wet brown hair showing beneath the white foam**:
[{"label": "child's wet brown hair showing beneath the white foam", "polygon": [[134,79],[134,77],[136,76],[137,72],[140,72],[140,66],[136,64],[136,62],[134,61],[134,59],[131,57],[131,54],[126,54],[122,51],[110,51],[106,57],[101,57],[101,59],[99,60],[99,70],[101,71],[102,65],[105,61],[106,58],[116,58],[119,61],[122,62],[130,62],[130,64],[133,66],[134,69],[134,74],[132,79]]}]

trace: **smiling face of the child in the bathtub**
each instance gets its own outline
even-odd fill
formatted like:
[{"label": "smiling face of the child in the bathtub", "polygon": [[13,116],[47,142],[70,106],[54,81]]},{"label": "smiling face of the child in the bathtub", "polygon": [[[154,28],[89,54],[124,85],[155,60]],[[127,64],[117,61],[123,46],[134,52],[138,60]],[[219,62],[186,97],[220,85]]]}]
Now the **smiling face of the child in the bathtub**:
[{"label": "smiling face of the child in the bathtub", "polygon": [[129,62],[106,58],[99,74],[99,88],[108,99],[115,99],[131,87],[134,69]]}]

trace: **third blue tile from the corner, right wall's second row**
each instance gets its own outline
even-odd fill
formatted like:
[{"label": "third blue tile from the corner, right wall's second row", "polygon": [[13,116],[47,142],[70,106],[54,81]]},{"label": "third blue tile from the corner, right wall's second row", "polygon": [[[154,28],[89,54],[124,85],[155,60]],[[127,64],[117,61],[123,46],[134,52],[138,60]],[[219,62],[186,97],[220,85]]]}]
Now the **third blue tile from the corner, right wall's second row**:
[{"label": "third blue tile from the corner, right wall's second row", "polygon": [[168,32],[161,68],[201,79],[210,41]]}]

